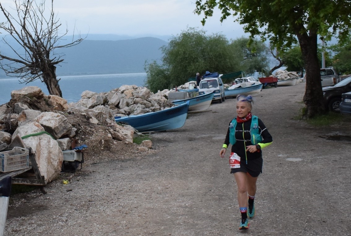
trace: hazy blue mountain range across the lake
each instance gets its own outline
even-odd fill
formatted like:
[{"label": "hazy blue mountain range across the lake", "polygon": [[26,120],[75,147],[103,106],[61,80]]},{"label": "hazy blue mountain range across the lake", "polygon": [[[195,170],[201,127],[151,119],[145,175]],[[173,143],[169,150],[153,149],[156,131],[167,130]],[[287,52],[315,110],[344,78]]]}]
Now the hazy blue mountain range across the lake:
[{"label": "hazy blue mountain range across the lake", "polygon": [[[84,35],[82,35],[84,37]],[[56,50],[64,61],[57,66],[57,76],[86,74],[118,74],[145,72],[145,61],[160,60],[160,47],[165,40],[154,37],[126,39],[127,35],[88,35],[80,44]],[[67,43],[72,37],[66,37]],[[0,42],[1,53],[14,56],[13,52]],[[6,54],[7,53],[7,54]],[[6,77],[0,71],[0,78]]]}]

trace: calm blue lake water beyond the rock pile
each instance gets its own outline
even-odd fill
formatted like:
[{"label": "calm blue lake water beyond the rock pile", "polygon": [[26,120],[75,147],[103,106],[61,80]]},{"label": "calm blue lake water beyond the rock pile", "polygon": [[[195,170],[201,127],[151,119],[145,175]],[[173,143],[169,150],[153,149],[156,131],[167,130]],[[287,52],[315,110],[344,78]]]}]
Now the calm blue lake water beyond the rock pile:
[{"label": "calm blue lake water beyond the rock pile", "polygon": [[[111,91],[121,85],[143,86],[146,73],[58,76],[57,78],[61,78],[59,85],[62,97],[70,103],[78,101],[85,90],[100,93]],[[38,86],[46,95],[49,94],[45,84],[39,79],[29,84],[20,84],[16,78],[0,79],[0,105],[11,99],[11,91],[27,86]]]}]

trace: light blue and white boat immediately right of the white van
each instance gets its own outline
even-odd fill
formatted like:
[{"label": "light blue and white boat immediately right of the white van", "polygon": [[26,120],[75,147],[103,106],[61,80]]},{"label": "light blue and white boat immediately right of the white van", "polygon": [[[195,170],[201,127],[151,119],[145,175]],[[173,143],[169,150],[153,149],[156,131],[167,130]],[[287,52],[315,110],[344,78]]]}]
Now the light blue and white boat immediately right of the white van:
[{"label": "light blue and white boat immediately right of the white van", "polygon": [[237,97],[239,94],[245,96],[255,96],[261,92],[262,86],[263,84],[260,82],[246,82],[235,84],[228,89],[224,89],[224,97]]}]

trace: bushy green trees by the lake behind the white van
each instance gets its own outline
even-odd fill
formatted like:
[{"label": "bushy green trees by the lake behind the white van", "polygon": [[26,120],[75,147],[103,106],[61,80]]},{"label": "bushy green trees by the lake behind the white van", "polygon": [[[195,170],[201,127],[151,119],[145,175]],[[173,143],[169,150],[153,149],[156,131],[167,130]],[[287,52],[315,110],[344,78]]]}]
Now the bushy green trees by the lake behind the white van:
[{"label": "bushy green trees by the lake behind the white van", "polygon": [[[146,86],[153,92],[171,89],[188,82],[196,73],[206,71],[227,74],[237,71],[254,73],[268,64],[264,44],[249,39],[229,41],[222,34],[206,35],[203,30],[188,28],[173,36],[168,45],[161,48],[162,65],[156,61],[145,63]],[[256,47],[255,47],[256,46]],[[255,50],[251,52],[252,50]]]}]

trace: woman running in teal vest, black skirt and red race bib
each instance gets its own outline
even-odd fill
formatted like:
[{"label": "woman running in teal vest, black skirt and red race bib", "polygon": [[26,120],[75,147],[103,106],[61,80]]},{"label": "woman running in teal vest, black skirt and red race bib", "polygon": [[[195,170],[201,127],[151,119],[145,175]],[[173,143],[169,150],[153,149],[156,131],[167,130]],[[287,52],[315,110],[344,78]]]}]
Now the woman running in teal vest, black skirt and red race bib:
[{"label": "woman running in teal vest, black skirt and red race bib", "polygon": [[249,229],[248,218],[256,215],[254,198],[256,181],[262,173],[262,151],[273,142],[266,126],[251,114],[252,96],[237,96],[236,112],[228,127],[220,157],[224,157],[227,147],[232,144],[230,155],[231,173],[238,186],[238,203],[241,213],[239,229]]}]

